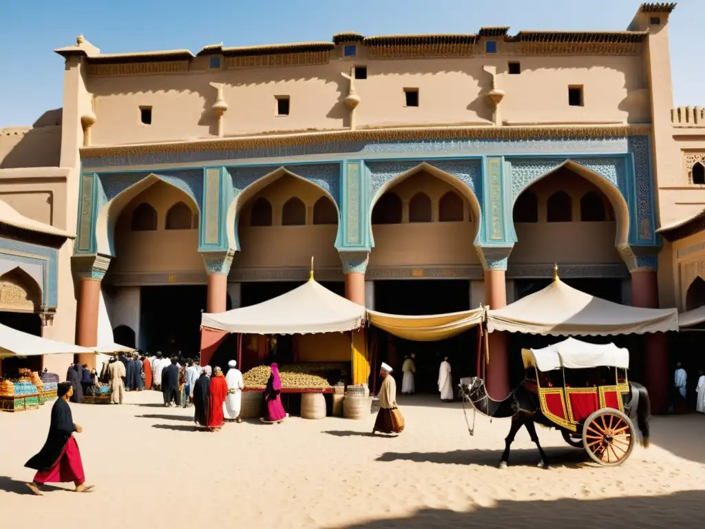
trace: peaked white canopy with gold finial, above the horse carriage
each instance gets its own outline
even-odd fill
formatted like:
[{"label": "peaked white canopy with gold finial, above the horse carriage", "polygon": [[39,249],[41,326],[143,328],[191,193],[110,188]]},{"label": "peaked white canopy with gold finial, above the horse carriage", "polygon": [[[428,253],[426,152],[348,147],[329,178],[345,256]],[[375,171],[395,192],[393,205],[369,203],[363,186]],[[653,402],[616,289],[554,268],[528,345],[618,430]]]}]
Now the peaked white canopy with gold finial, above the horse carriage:
[{"label": "peaked white canopy with gold finial, above the horse carriage", "polygon": [[489,310],[487,329],[558,336],[609,336],[678,331],[678,310],[612,303],[581,292],[554,276],[541,291],[505,308]]}]

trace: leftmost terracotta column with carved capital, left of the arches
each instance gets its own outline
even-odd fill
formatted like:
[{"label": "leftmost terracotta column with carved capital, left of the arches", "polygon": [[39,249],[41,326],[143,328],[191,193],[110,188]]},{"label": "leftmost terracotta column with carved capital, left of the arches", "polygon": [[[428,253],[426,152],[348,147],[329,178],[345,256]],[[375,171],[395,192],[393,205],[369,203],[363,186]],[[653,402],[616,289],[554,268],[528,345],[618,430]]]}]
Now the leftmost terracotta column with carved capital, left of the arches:
[{"label": "leftmost terracotta column with carved capital, left of the arches", "polygon": [[[75,255],[71,265],[78,277],[78,303],[76,305],[76,344],[82,347],[98,345],[98,314],[100,288],[105,272],[110,266],[107,255]],[[80,354],[76,361],[95,367],[95,355]]]}]

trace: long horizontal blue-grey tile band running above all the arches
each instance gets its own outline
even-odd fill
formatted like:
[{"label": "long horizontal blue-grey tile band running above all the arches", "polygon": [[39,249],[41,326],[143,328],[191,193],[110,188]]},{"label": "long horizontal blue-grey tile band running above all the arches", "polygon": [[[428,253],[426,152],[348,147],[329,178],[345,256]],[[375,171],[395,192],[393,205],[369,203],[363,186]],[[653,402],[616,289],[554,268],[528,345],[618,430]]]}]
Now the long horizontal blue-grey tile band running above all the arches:
[{"label": "long horizontal blue-grey tile band running above all the arches", "polygon": [[[364,131],[362,131],[364,132]],[[414,131],[417,135],[422,133]],[[623,132],[623,134],[626,130]],[[446,136],[451,135],[445,132]],[[135,150],[130,154],[100,154],[92,155],[90,150],[82,157],[86,168],[118,167],[157,164],[204,164],[213,160],[298,157],[312,154],[433,154],[435,156],[482,156],[502,154],[561,154],[564,152],[584,152],[594,154],[623,154],[627,152],[626,135],[611,136],[606,130],[603,136],[597,138],[565,137],[551,138],[508,138],[483,139],[473,138],[467,133],[466,138],[443,138],[438,133],[437,138],[427,140],[329,140],[321,142],[298,142],[291,145],[271,145],[267,147],[223,148],[214,150],[166,150],[161,152],[142,152]],[[635,137],[630,137],[635,138]],[[639,136],[637,138],[647,138]],[[94,151],[95,152],[95,151]]]}]

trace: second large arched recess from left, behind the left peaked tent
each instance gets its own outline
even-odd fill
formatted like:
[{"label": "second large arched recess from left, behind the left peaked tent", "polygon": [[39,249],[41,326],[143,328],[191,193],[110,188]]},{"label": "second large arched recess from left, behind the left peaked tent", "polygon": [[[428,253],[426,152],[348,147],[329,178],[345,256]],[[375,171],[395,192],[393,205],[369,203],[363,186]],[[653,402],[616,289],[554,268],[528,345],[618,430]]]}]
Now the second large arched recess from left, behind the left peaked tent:
[{"label": "second large arched recess from left, behind the left peaked tent", "polygon": [[[240,307],[281,296],[307,281],[311,259],[315,279],[343,296],[345,285],[336,250],[338,207],[322,188],[284,169],[260,178],[238,197],[235,253],[228,281],[239,283]],[[278,336],[280,363],[314,361],[321,351],[300,347],[300,336]],[[243,370],[259,365],[271,351],[264,336],[243,337]],[[212,362],[226,367],[235,358],[234,337],[223,341]],[[348,356],[349,360],[349,346]]]}]

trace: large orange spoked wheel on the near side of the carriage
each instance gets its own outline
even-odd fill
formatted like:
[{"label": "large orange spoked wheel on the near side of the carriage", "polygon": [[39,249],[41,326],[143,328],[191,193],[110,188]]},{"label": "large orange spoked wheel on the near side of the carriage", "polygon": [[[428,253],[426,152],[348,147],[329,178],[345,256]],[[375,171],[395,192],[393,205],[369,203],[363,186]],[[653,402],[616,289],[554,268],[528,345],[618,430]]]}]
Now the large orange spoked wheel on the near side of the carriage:
[{"label": "large orange spoked wheel on the near side of the carriage", "polygon": [[592,413],[582,427],[582,445],[602,466],[624,463],[634,448],[634,425],[624,413],[603,408]]}]

